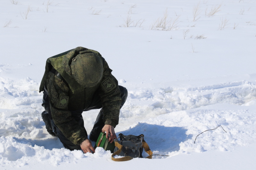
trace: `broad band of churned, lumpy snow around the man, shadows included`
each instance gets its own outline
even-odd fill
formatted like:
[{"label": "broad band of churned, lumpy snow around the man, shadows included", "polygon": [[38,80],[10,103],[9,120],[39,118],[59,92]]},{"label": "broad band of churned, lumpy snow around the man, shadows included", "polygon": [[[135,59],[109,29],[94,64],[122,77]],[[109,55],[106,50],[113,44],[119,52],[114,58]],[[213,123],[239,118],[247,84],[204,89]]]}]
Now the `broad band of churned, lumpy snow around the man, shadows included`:
[{"label": "broad band of churned, lumpy snow around the man, shadows included", "polygon": [[[22,88],[19,83],[13,85],[10,79],[2,78],[1,82],[0,95],[5,96],[5,102],[12,103],[13,108],[1,109],[1,161],[9,165],[16,161],[16,166],[33,156],[40,161],[58,165],[75,161],[77,157],[86,158],[81,151],[70,152],[62,148],[56,137],[49,137],[40,116],[43,110],[40,108],[42,94],[34,91],[38,84],[29,78],[20,82],[30,86],[31,90]],[[184,89],[169,87],[130,90],[120,112],[119,124],[122,126],[117,127],[116,132],[144,134],[154,154],[175,156],[183,152],[229,151],[253,143],[256,137],[255,113],[250,112],[246,106],[255,101],[255,90],[256,86],[246,81]],[[16,103],[16,99],[20,103]],[[218,109],[223,106],[222,103],[226,103],[225,109]],[[239,109],[228,109],[232,105],[237,105]],[[97,115],[97,111],[92,113],[94,117]],[[86,114],[83,116],[86,117]],[[93,117],[85,120],[85,123],[89,123],[86,129],[90,131]],[[218,125],[227,133],[221,128],[207,131],[198,136],[194,144],[198,134]],[[108,157],[110,153],[101,151],[98,154]]]}]

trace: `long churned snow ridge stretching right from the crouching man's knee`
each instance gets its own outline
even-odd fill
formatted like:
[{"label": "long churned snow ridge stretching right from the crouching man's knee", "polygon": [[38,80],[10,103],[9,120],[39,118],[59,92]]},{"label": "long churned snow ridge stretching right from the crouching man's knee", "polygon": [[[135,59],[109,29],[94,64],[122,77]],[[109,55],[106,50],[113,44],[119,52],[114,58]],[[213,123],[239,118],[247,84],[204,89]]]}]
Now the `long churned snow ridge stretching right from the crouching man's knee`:
[{"label": "long churned snow ridge stretching right from the crouching man's knee", "polygon": [[248,81],[181,89],[129,90],[120,116],[156,116],[219,103],[244,105],[255,99],[256,85]]}]

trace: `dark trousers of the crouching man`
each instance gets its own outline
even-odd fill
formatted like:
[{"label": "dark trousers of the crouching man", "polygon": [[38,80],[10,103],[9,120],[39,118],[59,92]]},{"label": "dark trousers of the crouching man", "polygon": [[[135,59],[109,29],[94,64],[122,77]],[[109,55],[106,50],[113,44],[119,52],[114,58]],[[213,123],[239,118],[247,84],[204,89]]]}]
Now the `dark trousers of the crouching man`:
[{"label": "dark trousers of the crouching man", "polygon": [[[119,85],[119,89],[121,91],[121,96],[120,97],[122,99],[122,103],[121,103],[121,106],[120,106],[120,109],[121,109],[121,107],[123,107],[123,105],[126,101],[128,92],[127,92],[127,89],[125,87],[120,86],[120,85]],[[60,142],[63,144],[63,146],[65,148],[67,148],[71,151],[80,150],[81,149],[80,145],[73,144],[70,140],[68,140],[68,138],[66,138],[62,134],[60,129],[53,122],[52,117],[51,117],[51,110],[50,110],[49,103],[50,102],[49,102],[48,91],[47,91],[46,88],[44,88],[44,96],[43,96],[42,106],[44,107],[45,111],[42,113],[42,117],[43,117],[43,120],[45,122],[45,127],[46,127],[47,131],[51,135],[56,135],[60,139]],[[86,108],[84,110],[71,111],[71,114],[72,114],[72,117],[76,120],[76,122],[78,122],[78,124],[81,127],[84,128],[84,119],[82,117],[82,113],[84,111],[89,111],[89,110],[92,110],[92,109],[100,109],[100,108],[102,108],[100,96],[96,93],[94,95],[93,99],[92,99],[92,103],[90,104],[90,106],[88,108]],[[97,140],[98,136],[100,135],[101,129],[104,126],[104,123],[105,122],[104,122],[104,117],[103,117],[103,111],[101,109],[97,118],[96,118],[96,121],[95,121],[94,126],[92,128],[92,131],[90,133],[90,140],[92,140],[92,141]],[[88,136],[86,130],[85,130],[85,133],[86,133],[86,136]]]}]

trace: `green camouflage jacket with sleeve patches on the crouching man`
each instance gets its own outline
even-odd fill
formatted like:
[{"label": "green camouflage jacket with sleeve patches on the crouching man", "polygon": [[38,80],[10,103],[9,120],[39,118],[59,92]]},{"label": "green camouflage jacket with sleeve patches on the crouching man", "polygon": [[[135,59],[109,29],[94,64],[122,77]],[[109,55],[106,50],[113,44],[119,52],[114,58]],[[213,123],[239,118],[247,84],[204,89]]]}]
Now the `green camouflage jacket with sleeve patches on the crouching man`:
[{"label": "green camouflage jacket with sleeve patches on the crouching man", "polygon": [[[47,87],[52,119],[63,135],[74,144],[80,144],[82,141],[87,139],[87,136],[84,132],[84,128],[79,126],[74,118],[72,118],[71,110],[75,111],[76,109],[86,109],[89,106],[94,93],[98,92],[102,103],[105,124],[116,127],[119,120],[121,105],[118,81],[111,74],[112,70],[109,69],[108,63],[103,57],[101,57],[103,63],[103,78],[99,85],[96,85],[93,88],[84,89],[71,78],[69,61],[77,54],[76,51],[84,49],[89,50],[87,48],[78,47],[70,50],[67,54],[53,56],[54,60],[52,60],[52,57],[48,58],[44,77],[39,90],[41,92],[43,91],[44,86]],[[90,51],[100,55],[97,51]],[[62,64],[62,71],[58,68],[60,63]],[[49,71],[51,67],[60,72],[62,77],[67,80],[66,82],[68,82],[68,85],[54,73]],[[111,79],[114,83],[110,90],[106,90],[106,86],[103,85],[103,83],[108,79]]]}]

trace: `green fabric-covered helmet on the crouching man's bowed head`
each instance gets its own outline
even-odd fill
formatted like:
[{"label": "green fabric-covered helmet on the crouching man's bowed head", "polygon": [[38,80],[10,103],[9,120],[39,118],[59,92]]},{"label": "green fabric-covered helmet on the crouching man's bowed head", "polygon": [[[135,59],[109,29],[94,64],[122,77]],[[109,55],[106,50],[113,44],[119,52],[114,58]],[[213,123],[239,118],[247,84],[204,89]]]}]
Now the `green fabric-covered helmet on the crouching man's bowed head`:
[{"label": "green fabric-covered helmet on the crouching man's bowed head", "polygon": [[103,64],[99,55],[80,51],[71,62],[71,74],[84,87],[93,87],[101,82]]}]

